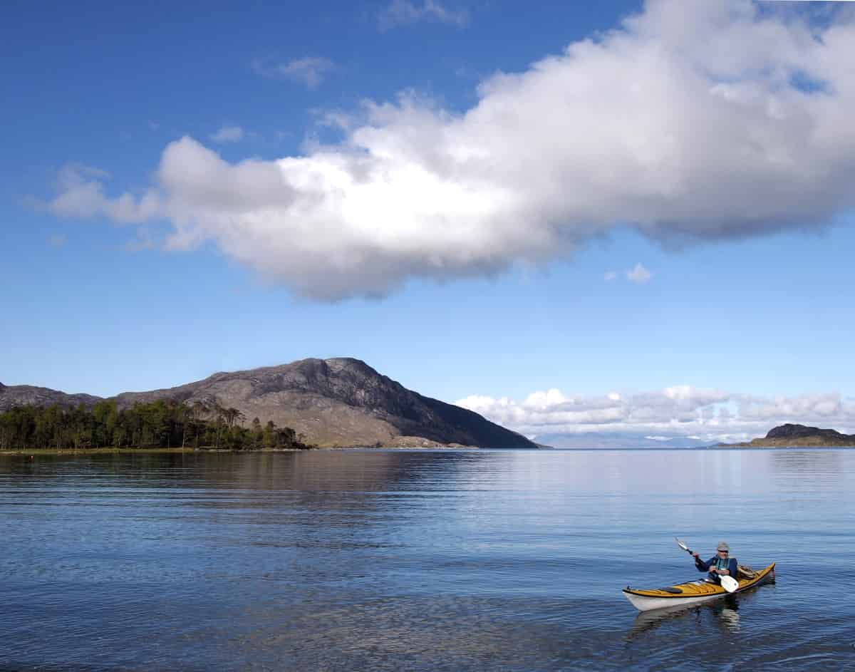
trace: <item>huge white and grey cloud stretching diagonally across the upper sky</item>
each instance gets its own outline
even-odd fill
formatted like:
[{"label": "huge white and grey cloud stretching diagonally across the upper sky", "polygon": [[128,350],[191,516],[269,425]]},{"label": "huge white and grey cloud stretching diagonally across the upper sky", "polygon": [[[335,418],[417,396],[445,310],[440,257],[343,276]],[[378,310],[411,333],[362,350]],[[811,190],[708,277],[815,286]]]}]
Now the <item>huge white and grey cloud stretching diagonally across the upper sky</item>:
[{"label": "huge white and grey cloud stretching diagonally across the upper sky", "polygon": [[[319,299],[551,262],[622,224],[680,245],[823,226],[855,207],[855,21],[837,17],[652,0],[618,30],[482,81],[463,114],[412,94],[366,103],[339,144],[278,161],[231,164],[180,139],[152,198],[174,249],[212,240]],[[312,85],[323,66],[289,68],[278,76]],[[51,209],[151,214],[104,197],[103,181]]]}]

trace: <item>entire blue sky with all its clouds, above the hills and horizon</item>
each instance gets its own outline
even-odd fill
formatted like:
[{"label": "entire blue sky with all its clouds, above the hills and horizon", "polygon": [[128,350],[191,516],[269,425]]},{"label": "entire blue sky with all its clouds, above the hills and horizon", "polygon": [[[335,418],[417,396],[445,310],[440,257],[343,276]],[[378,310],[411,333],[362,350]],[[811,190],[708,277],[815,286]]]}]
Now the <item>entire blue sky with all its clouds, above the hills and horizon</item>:
[{"label": "entire blue sky with all its clouds, above the hills and horizon", "polygon": [[530,435],[855,431],[851,14],[119,4],[2,10],[4,384],[358,357]]}]

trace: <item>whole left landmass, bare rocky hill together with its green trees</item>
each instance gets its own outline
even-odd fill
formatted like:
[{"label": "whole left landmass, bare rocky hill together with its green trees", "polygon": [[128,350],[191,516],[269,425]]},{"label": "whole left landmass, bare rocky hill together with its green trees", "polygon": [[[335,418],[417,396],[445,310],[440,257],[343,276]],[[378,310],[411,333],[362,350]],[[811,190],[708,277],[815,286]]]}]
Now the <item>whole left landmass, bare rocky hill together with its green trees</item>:
[{"label": "whole left landmass, bare rocky hill together with its green trees", "polygon": [[408,390],[351,357],[213,374],[111,398],[0,383],[0,451],[51,445],[541,447],[471,410]]}]

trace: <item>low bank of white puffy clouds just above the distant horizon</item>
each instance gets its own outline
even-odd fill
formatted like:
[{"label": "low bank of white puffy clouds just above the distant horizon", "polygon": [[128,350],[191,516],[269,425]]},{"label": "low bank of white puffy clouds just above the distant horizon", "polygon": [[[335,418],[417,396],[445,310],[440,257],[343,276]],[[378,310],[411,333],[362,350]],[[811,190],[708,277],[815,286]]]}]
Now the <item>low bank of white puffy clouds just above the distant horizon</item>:
[{"label": "low bank of white puffy clouds just above the distant horizon", "polygon": [[764,436],[784,422],[855,433],[855,399],[839,394],[767,399],[675,386],[583,397],[551,389],[529,394],[522,402],[473,395],[456,404],[529,436],[608,432],[641,434],[655,440],[736,441]]}]

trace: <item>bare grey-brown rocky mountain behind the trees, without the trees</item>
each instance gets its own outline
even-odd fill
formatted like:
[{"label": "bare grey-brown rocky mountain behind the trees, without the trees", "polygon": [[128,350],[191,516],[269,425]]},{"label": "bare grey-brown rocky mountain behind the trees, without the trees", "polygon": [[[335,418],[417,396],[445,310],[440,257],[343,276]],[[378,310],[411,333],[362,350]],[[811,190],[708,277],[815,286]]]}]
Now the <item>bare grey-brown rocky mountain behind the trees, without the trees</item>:
[{"label": "bare grey-brown rocky mountain behind the trees, without the trees", "polygon": [[[42,390],[40,397],[27,390]],[[85,400],[83,399],[85,398]],[[157,399],[188,405],[220,404],[292,427],[306,441],[323,446],[478,445],[536,448],[522,434],[477,413],[412,392],[368,364],[347,357],[304,359],[280,366],[219,373],[204,380],[150,392],[122,392],[119,408]],[[20,404],[95,404],[99,398],[9,386],[0,389],[0,410]]]}]

